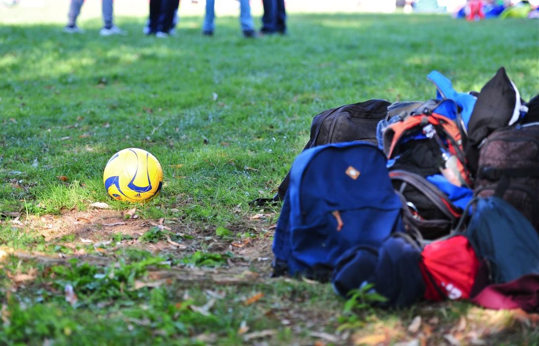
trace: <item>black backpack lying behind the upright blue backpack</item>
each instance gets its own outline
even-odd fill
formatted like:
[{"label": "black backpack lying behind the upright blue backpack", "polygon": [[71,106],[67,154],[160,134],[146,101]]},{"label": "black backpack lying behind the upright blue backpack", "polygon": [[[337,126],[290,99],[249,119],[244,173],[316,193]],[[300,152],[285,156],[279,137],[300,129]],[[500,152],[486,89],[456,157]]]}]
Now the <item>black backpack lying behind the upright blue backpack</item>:
[{"label": "black backpack lying behind the upright blue backpack", "polygon": [[[365,141],[377,144],[376,127],[380,120],[386,119],[389,105],[391,102],[386,100],[369,100],[324,110],[315,115],[310,126],[310,139],[303,151],[339,142]],[[289,182],[290,172],[279,185],[273,200],[285,198]],[[257,203],[260,202],[265,202],[265,199],[258,199]]]}]

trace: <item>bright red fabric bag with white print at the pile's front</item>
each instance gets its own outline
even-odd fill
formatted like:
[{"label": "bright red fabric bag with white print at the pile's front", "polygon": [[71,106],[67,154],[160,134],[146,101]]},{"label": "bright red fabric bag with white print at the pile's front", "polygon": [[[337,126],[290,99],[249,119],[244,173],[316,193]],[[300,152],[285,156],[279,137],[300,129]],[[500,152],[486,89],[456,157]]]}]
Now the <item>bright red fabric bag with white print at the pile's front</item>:
[{"label": "bright red fabric bag with white print at the pile's front", "polygon": [[468,238],[458,235],[433,241],[424,247],[421,257],[425,299],[469,299],[480,262]]}]

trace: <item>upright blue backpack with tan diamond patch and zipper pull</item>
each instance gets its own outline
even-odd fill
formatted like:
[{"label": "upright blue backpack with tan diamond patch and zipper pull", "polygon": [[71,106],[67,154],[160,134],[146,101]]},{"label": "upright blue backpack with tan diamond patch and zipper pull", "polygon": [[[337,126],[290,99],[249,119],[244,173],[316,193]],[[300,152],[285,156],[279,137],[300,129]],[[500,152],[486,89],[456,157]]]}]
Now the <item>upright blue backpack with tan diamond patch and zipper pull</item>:
[{"label": "upright blue backpack with tan diamond patch and zipper pull", "polygon": [[386,157],[374,145],[334,143],[303,151],[292,165],[275,230],[274,276],[328,280],[349,248],[378,247],[402,231],[401,208]]}]

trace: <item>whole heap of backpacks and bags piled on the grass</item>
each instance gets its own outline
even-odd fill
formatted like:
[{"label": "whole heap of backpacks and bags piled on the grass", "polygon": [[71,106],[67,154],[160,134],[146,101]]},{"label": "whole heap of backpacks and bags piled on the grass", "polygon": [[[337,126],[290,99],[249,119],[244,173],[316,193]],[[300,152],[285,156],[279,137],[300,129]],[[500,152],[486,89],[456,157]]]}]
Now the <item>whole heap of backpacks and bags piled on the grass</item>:
[{"label": "whole heap of backpacks and bags piled on the grass", "polygon": [[366,285],[387,307],[539,310],[539,95],[502,67],[479,93],[433,71],[426,102],[316,115],[274,200],[274,276]]}]

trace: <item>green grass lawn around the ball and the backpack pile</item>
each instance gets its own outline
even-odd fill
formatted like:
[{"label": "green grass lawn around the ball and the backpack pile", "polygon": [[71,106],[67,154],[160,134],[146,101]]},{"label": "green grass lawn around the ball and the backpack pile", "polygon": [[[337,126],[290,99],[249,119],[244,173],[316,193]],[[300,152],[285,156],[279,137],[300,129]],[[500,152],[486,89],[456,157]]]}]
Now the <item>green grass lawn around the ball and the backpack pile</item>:
[{"label": "green grass lawn around the ball and the backpack pile", "polygon": [[[287,36],[255,40],[240,36],[237,18],[220,18],[212,38],[200,22],[182,18],[166,40],[139,35],[143,18],[120,17],[131,34],[107,39],[98,19],[84,36],[0,25],[0,343],[439,344],[445,334],[470,342],[472,331],[487,343],[539,342],[537,325],[509,312],[464,302],[386,311],[345,304],[329,285],[269,279],[279,207],[249,204],[273,195],[324,109],[432,98],[431,70],[479,91],[500,66],[529,100],[537,22],[294,14]],[[102,186],[108,158],[127,147],[164,169],[139,219],[120,216],[133,206]],[[103,215],[126,228],[104,226]],[[417,315],[419,334],[407,331]]]}]

